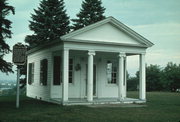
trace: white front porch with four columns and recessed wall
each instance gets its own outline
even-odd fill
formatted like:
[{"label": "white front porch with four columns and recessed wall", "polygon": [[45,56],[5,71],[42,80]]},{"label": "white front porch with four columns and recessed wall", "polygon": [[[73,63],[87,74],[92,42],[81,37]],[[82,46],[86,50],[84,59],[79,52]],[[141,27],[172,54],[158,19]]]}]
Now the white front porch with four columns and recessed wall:
[{"label": "white front porch with four columns and recessed wall", "polygon": [[[145,95],[145,53],[102,52],[63,49],[62,96],[53,101],[68,104],[143,103]],[[78,56],[78,55],[80,56]],[[139,98],[127,98],[127,57],[139,55]],[[74,56],[74,58],[72,58]],[[71,57],[71,58],[70,58]],[[106,58],[104,58],[106,57]],[[74,60],[74,81],[69,83],[69,59]],[[116,63],[114,63],[114,62]],[[115,70],[113,70],[115,68]],[[70,68],[71,69],[71,68]],[[110,77],[109,77],[110,76]],[[53,89],[53,88],[51,88]],[[77,95],[75,95],[77,93]],[[80,99],[79,99],[80,98]]]}]

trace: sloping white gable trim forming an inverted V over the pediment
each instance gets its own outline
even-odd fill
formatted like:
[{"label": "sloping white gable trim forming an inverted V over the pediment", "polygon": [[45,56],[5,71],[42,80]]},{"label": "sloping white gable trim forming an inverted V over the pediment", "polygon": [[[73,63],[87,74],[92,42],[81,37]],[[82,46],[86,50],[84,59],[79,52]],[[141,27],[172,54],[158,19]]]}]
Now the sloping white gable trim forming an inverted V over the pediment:
[{"label": "sloping white gable trim forming an inverted V over the pediment", "polygon": [[[123,31],[124,33],[126,33],[127,35],[129,35],[130,37],[135,38],[139,43],[143,44],[143,46],[145,47],[151,47],[154,44],[152,42],[150,42],[149,40],[147,40],[146,38],[144,38],[143,36],[141,36],[140,34],[136,33],[135,31],[133,31],[132,29],[130,29],[129,27],[127,27],[126,25],[124,25],[123,23],[121,23],[120,21],[118,21],[117,19],[115,19],[114,17],[107,17],[104,20],[101,20],[99,22],[96,22],[94,24],[85,26],[81,29],[78,29],[76,31],[70,32],[66,35],[61,36],[61,40],[63,41],[68,41],[71,40],[74,36],[80,35],[84,32],[90,31],[92,29],[98,28],[104,24],[110,23],[113,26],[115,26],[117,29]],[[75,40],[77,41],[77,40]],[[111,42],[109,42],[108,44],[110,44]]]}]

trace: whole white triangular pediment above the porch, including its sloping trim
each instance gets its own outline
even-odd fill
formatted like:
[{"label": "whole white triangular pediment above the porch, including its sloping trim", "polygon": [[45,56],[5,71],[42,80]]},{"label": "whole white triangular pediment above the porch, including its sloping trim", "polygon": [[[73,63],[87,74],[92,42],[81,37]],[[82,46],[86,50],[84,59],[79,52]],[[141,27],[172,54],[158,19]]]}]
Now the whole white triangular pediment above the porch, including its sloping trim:
[{"label": "whole white triangular pediment above the porch, including its sloping trim", "polygon": [[62,36],[62,40],[150,47],[153,44],[116,19],[105,20]]}]

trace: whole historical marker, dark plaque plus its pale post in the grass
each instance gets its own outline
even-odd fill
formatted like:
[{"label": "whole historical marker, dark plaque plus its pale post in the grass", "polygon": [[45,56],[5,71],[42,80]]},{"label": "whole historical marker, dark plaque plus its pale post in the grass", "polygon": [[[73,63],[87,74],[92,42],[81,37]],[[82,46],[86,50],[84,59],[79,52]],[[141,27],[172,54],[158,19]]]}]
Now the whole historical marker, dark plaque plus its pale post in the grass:
[{"label": "whole historical marker, dark plaque plus its pale post in the grass", "polygon": [[19,108],[19,81],[20,81],[20,66],[26,63],[27,48],[22,43],[17,43],[13,46],[13,63],[17,65],[17,92],[16,92],[16,108]]}]

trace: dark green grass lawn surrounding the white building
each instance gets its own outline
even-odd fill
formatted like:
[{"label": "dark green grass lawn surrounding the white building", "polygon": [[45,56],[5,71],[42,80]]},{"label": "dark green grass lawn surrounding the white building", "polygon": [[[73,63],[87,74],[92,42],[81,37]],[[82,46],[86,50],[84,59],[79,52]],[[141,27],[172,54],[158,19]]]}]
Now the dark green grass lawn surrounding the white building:
[{"label": "dark green grass lawn surrounding the white building", "polygon": [[[135,92],[128,94],[136,96]],[[147,107],[61,106],[21,96],[0,97],[0,122],[180,122],[180,93],[149,92]]]}]

